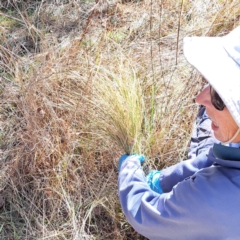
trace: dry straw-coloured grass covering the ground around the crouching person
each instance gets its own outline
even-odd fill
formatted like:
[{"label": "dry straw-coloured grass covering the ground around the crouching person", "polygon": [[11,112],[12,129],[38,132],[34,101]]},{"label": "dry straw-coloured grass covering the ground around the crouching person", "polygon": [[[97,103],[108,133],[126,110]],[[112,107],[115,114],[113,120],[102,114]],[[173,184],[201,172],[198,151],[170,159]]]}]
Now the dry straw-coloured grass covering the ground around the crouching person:
[{"label": "dry straw-coloured grass covering the ground around the crouching person", "polygon": [[183,37],[239,24],[239,0],[1,1],[0,239],[144,239],[118,159],[186,159],[202,83]]}]

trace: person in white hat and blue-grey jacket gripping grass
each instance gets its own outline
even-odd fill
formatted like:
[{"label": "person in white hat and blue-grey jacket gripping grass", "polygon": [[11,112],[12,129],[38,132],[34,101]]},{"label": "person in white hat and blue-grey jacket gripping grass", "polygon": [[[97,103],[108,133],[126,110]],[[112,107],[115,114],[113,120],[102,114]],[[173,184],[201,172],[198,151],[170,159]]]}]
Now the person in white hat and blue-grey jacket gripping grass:
[{"label": "person in white hat and blue-grey jacket gripping grass", "polygon": [[[240,27],[223,37],[186,37],[183,48],[209,83],[196,97],[202,113],[190,158],[145,176],[144,156],[123,155],[120,203],[149,239],[240,239]],[[205,130],[209,137],[201,138]]]}]

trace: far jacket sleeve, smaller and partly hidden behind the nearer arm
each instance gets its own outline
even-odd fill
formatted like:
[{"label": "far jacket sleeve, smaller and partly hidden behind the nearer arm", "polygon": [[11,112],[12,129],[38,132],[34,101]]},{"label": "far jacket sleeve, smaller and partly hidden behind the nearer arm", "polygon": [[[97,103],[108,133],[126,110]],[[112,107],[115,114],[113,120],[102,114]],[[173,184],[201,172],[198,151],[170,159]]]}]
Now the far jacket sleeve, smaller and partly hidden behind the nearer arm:
[{"label": "far jacket sleeve, smaller and partly hidden behind the nearer arm", "polygon": [[163,192],[170,192],[177,183],[192,176],[198,170],[209,167],[212,164],[213,162],[208,158],[208,151],[204,151],[193,159],[179,162],[161,170],[160,184]]}]

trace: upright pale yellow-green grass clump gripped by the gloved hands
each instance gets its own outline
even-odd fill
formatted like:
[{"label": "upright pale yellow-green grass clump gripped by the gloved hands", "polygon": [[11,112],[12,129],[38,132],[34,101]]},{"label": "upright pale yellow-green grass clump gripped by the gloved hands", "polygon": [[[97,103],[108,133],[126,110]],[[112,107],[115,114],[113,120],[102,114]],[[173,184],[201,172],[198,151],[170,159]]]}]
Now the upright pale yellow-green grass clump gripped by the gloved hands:
[{"label": "upright pale yellow-green grass clump gripped by the gloved hands", "polygon": [[[127,154],[141,153],[145,105],[139,79],[127,61],[115,59],[118,71],[107,69],[96,78],[96,127]],[[101,70],[99,70],[101,72]]]}]

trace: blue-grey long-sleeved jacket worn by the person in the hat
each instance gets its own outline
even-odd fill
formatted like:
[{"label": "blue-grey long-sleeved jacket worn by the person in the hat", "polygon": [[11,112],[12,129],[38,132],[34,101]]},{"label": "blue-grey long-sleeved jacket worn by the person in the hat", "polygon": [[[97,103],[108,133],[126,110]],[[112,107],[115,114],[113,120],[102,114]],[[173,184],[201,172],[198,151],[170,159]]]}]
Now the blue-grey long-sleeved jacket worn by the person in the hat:
[{"label": "blue-grey long-sleeved jacket worn by the person in the hat", "polygon": [[133,228],[149,239],[240,239],[240,149],[209,153],[161,172],[163,194],[146,183],[137,158],[123,162],[119,198]]}]

